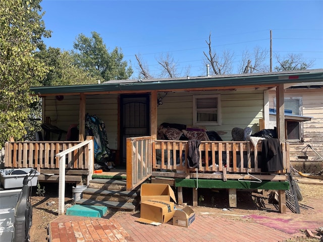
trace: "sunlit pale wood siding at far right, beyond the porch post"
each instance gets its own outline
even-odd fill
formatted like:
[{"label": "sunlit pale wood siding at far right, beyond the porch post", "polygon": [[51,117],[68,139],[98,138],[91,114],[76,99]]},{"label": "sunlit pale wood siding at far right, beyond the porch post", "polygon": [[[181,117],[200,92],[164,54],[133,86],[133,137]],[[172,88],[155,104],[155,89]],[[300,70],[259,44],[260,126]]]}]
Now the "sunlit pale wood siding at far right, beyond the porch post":
[{"label": "sunlit pale wood siding at far right, beyond the porch post", "polygon": [[[274,108],[275,92],[270,92],[270,108]],[[322,169],[323,164],[323,96],[321,89],[286,89],[285,97],[302,97],[304,142],[290,141],[290,161],[295,169],[310,173]],[[308,147],[310,145],[313,149]],[[319,154],[317,155],[315,151]],[[322,158],[320,158],[321,156]]]}]

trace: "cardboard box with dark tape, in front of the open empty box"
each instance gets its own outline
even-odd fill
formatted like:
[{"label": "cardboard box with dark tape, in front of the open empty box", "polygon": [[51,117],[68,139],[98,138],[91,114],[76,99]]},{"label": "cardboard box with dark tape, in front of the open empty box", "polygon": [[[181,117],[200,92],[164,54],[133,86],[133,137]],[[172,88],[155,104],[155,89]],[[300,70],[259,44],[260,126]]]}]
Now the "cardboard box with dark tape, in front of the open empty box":
[{"label": "cardboard box with dark tape, in front of the open empty box", "polygon": [[172,219],[174,212],[173,202],[152,199],[141,202],[140,218],[136,221],[152,225],[167,223]]}]

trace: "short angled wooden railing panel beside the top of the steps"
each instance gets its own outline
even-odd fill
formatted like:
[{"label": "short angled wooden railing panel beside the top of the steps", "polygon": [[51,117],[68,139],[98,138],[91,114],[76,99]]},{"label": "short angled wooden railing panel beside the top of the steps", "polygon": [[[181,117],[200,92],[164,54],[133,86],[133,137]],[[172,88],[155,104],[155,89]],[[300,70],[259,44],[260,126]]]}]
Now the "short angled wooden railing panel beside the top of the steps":
[{"label": "short angled wooden railing panel beside the top of the steps", "polygon": [[127,138],[127,190],[151,176],[151,137]]}]

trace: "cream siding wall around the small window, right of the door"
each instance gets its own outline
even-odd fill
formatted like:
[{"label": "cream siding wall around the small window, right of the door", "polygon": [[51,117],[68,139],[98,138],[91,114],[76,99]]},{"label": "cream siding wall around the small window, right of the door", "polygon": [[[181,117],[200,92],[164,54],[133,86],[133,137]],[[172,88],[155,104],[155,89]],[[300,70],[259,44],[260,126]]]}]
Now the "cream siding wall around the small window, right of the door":
[{"label": "cream siding wall around the small window, right of the door", "polygon": [[232,140],[231,131],[235,127],[249,126],[253,133],[259,131],[259,118],[263,118],[263,90],[168,93],[163,105],[157,107],[157,125],[193,125],[193,95],[207,94],[221,94],[221,125],[205,126],[208,131],[227,132],[221,136],[224,141]]}]

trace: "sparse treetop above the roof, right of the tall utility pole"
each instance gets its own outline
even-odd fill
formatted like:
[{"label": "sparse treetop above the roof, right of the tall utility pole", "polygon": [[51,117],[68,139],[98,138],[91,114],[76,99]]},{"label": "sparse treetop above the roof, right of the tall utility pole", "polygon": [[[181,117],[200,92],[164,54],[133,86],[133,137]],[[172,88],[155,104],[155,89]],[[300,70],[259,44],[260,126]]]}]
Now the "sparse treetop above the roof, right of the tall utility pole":
[{"label": "sparse treetop above the roof, right of the tall utility pole", "polygon": [[302,57],[302,54],[293,54],[290,53],[287,56],[281,58],[279,55],[276,55],[278,66],[274,68],[276,72],[282,71],[294,71],[294,70],[306,70],[313,66],[314,61],[306,61]]}]

